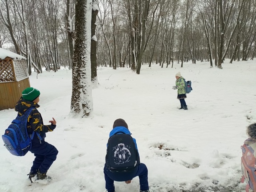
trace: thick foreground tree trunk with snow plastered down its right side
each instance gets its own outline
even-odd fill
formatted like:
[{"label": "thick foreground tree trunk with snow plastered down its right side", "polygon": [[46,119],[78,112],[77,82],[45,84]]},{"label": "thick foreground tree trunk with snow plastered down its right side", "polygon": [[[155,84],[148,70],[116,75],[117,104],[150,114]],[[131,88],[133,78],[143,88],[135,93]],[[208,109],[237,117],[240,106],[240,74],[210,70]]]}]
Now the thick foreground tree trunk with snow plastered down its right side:
[{"label": "thick foreground tree trunk with snow plastered down its right side", "polygon": [[76,0],[76,21],[72,70],[71,113],[88,116],[93,110],[91,83],[92,0]]}]

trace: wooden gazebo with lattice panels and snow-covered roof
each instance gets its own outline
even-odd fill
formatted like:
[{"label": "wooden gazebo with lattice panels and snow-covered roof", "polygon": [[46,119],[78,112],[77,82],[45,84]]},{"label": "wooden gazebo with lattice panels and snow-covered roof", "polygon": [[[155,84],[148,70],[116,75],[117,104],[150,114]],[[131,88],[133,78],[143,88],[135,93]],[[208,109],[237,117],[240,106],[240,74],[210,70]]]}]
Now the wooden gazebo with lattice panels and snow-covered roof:
[{"label": "wooden gazebo with lattice panels and snow-covered roof", "polygon": [[14,108],[27,87],[30,82],[26,58],[0,48],[0,110]]}]

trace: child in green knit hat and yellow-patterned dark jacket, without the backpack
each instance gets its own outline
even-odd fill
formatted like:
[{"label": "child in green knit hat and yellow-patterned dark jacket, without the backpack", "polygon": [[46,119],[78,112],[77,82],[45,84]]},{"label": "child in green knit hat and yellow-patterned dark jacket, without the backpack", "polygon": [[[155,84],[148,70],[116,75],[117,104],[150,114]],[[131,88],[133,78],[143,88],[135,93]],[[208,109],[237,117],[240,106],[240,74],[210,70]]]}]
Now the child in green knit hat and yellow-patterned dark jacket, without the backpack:
[{"label": "child in green knit hat and yellow-patterned dark jacket, without the backpack", "polygon": [[52,118],[49,121],[50,125],[44,125],[42,116],[37,110],[40,107],[38,105],[39,96],[39,90],[28,87],[22,91],[22,97],[15,106],[15,111],[20,116],[24,115],[28,108],[33,108],[28,116],[27,123],[28,135],[32,135],[33,132],[36,133],[31,141],[32,147],[30,149],[30,152],[35,156],[30,173],[28,174],[31,182],[50,178],[46,175],[46,172],[56,160],[58,154],[58,150],[53,145],[44,141],[46,132],[52,132],[56,128],[56,120]]}]

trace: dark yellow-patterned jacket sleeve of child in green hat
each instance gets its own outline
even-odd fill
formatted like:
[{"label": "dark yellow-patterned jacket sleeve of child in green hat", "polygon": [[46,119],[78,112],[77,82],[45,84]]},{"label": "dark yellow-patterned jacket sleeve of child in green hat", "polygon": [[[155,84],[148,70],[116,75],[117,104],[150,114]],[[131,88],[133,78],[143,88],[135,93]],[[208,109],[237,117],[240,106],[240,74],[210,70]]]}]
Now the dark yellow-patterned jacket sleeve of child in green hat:
[{"label": "dark yellow-patterned jacket sleeve of child in green hat", "polygon": [[31,126],[31,129],[39,134],[47,133],[48,131],[53,131],[56,128],[56,125],[44,125],[41,114],[35,108],[30,113],[28,117],[28,122]]}]

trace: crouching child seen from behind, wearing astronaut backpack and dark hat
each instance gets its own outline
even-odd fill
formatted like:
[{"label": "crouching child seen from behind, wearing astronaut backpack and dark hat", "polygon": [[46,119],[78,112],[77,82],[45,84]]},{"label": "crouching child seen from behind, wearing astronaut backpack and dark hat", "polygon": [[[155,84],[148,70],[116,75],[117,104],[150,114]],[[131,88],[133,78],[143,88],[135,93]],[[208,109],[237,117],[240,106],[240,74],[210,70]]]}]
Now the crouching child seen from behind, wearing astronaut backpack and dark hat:
[{"label": "crouching child seen from behind, wearing astronaut backpack and dark hat", "polygon": [[140,163],[136,140],[130,135],[128,125],[123,119],[114,121],[109,134],[104,166],[108,192],[115,192],[114,181],[129,184],[136,176],[140,179],[140,192],[149,192],[148,169],[145,164]]}]

